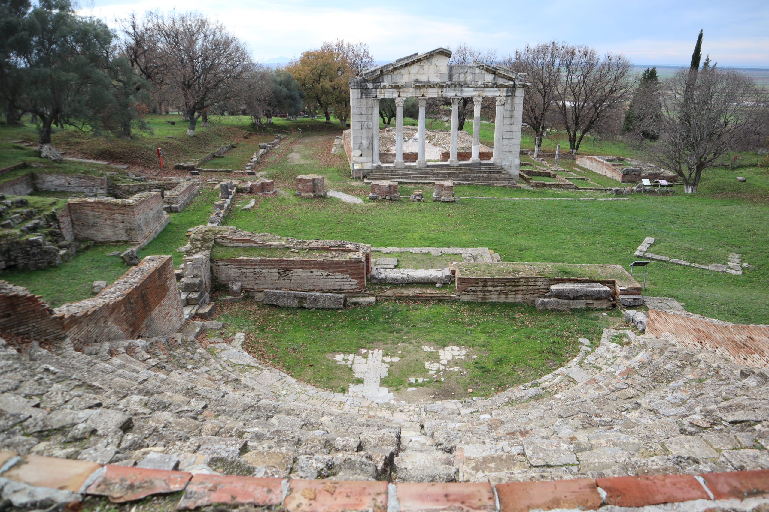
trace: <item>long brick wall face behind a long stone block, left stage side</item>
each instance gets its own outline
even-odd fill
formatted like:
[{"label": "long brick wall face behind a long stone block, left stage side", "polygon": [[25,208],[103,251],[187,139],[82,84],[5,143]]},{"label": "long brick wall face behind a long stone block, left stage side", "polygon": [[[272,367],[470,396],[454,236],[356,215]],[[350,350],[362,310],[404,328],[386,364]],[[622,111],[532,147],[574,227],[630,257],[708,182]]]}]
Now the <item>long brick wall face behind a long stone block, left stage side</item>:
[{"label": "long brick wall face behind a long stone block, left stage side", "polygon": [[366,288],[366,260],[235,258],[211,260],[219,282],[240,281],[243,289],[360,291]]}]

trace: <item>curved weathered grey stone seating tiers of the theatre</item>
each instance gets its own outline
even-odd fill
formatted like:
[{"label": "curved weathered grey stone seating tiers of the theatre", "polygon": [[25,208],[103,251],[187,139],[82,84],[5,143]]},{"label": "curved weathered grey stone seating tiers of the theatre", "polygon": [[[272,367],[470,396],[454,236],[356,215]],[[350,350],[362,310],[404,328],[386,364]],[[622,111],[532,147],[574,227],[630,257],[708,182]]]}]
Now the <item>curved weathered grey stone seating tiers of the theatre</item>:
[{"label": "curved weathered grey stone seating tiers of the theatre", "polygon": [[194,335],[84,352],[3,343],[0,451],[493,484],[769,467],[769,370],[631,331],[583,340],[564,368],[494,397],[415,404],[314,388],[256,362],[240,335],[206,348]]}]

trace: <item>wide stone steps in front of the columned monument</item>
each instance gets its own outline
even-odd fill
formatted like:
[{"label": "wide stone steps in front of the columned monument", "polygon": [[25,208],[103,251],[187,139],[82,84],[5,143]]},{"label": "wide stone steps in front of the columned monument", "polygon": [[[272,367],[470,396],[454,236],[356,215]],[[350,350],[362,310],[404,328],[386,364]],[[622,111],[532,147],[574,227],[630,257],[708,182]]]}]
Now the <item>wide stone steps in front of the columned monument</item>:
[{"label": "wide stone steps in front of the columned monument", "polygon": [[391,180],[398,183],[434,183],[435,181],[451,180],[454,183],[473,183],[478,185],[515,185],[508,171],[493,164],[462,165],[450,167],[447,165],[428,164],[428,167],[407,167],[394,169],[384,167],[374,170],[366,180]]}]

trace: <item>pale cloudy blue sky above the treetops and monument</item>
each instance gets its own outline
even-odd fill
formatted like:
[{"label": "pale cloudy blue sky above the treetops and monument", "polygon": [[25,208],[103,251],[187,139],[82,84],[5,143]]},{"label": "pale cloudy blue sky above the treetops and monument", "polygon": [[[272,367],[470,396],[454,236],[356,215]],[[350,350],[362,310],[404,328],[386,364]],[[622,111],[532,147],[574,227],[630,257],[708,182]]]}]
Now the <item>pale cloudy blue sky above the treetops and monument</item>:
[{"label": "pale cloudy blue sky above the treetops and monument", "polygon": [[110,25],[132,11],[201,12],[247,41],[256,61],[293,58],[327,39],[345,38],[367,42],[378,61],[461,43],[508,53],[527,42],[558,40],[622,52],[637,64],[688,64],[697,32],[704,28],[703,58],[710,54],[725,66],[769,66],[767,0],[80,2],[82,14]]}]

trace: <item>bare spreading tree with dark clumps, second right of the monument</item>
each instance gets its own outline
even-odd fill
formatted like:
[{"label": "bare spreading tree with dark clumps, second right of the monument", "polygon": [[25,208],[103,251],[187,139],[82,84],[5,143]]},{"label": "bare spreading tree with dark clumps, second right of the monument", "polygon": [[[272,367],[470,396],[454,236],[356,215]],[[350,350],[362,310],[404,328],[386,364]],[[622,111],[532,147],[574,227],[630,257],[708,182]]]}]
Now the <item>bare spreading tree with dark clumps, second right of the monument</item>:
[{"label": "bare spreading tree with dark clumps, second right of the monument", "polygon": [[555,104],[571,152],[577,153],[585,135],[598,130],[606,117],[624,107],[633,94],[635,80],[631,62],[624,55],[608,53],[601,58],[588,46],[564,46],[560,61],[562,77]]}]

